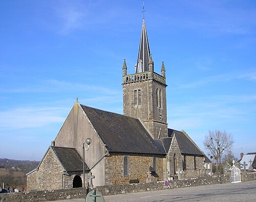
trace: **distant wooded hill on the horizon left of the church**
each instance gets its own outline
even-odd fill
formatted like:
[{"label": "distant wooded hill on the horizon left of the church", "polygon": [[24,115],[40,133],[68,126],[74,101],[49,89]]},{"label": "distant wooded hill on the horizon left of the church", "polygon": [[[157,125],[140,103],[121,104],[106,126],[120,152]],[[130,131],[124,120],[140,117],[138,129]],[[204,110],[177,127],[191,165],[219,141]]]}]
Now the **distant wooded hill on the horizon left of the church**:
[{"label": "distant wooded hill on the horizon left of the church", "polygon": [[22,160],[13,160],[13,159],[0,159],[0,168],[7,169],[18,169],[30,171],[35,169],[40,161],[22,161]]}]

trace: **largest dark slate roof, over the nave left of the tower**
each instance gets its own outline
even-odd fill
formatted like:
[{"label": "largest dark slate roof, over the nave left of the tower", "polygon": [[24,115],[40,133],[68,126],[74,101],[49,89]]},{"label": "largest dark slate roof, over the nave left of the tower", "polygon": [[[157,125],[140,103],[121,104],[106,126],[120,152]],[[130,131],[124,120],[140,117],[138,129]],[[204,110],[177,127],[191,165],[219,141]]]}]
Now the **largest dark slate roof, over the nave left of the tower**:
[{"label": "largest dark slate roof, over the nave left of the tower", "polygon": [[166,153],[139,119],[81,105],[109,152],[163,155]]}]

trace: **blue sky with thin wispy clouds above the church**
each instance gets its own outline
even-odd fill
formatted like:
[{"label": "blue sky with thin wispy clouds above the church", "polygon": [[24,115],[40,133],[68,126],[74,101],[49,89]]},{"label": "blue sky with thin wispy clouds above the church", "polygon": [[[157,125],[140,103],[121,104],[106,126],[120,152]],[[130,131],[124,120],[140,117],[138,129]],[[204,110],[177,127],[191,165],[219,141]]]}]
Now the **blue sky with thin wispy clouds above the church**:
[{"label": "blue sky with thin wispy clouds above the church", "polygon": [[[209,130],[256,152],[256,2],[145,1],[168,127],[201,147]],[[78,97],[122,114],[122,64],[135,72],[142,1],[0,1],[0,158],[40,160]]]}]

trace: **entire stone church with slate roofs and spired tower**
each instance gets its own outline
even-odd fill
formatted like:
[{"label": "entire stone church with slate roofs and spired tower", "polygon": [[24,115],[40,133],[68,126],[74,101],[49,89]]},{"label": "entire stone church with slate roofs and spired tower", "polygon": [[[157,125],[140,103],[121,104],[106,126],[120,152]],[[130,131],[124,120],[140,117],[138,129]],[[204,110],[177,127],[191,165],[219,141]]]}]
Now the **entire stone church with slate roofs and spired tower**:
[{"label": "entire stone church with slate roofs and spired tower", "polygon": [[[86,185],[145,183],[205,174],[204,154],[185,131],[168,129],[166,78],[154,71],[143,19],[135,73],[123,77],[123,115],[74,104],[38,167],[27,173],[28,190],[81,187],[83,147]],[[91,185],[92,186],[92,185]]]}]

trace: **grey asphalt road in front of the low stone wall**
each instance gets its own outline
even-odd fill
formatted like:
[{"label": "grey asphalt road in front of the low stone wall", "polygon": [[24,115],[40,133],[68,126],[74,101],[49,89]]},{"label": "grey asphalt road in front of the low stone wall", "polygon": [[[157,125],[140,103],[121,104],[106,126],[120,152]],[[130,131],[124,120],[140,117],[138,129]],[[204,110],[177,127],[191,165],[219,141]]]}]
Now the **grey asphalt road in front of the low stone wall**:
[{"label": "grey asphalt road in front of the low stone wall", "polygon": [[[121,201],[256,201],[256,181],[245,183],[226,183],[186,187],[178,189],[164,189],[140,193],[127,193],[104,196],[105,202]],[[59,200],[59,202],[81,202],[84,199]]]}]

